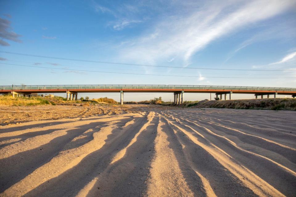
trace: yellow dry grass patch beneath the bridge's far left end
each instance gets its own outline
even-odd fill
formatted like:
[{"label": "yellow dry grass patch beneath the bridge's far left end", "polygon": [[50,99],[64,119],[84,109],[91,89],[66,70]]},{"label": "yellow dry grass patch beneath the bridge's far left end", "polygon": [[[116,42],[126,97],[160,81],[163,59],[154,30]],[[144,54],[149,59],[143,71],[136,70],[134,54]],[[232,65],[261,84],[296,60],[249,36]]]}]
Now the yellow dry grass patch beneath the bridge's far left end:
[{"label": "yellow dry grass patch beneath the bridge's far left end", "polygon": [[0,105],[6,106],[31,106],[31,105],[50,105],[51,103],[39,97],[12,97],[0,96]]}]

